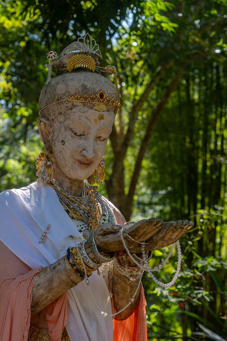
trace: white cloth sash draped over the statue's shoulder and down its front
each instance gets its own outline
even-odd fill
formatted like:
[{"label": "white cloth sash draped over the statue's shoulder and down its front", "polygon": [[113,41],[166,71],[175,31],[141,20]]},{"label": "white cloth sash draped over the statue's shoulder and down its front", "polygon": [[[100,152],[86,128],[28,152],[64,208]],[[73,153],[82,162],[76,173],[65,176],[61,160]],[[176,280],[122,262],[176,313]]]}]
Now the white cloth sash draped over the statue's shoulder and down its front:
[{"label": "white cloth sash draped over the statue's shoulder and down its front", "polygon": [[[0,240],[31,268],[48,266],[82,240],[74,223],[61,206],[55,190],[41,182],[0,194]],[[39,240],[50,224],[42,243]],[[73,238],[72,238],[73,236]],[[111,314],[111,302],[103,276],[93,272],[91,291],[100,309]],[[112,317],[96,307],[85,281],[67,291],[71,341],[112,341]]]}]

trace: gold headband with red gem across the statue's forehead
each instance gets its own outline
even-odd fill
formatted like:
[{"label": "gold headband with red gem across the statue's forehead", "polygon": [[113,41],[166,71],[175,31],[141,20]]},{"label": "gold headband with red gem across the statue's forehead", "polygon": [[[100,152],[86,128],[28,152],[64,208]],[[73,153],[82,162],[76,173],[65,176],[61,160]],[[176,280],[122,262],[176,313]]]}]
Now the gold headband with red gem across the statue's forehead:
[{"label": "gold headband with red gem across the statue's forehead", "polygon": [[63,101],[75,101],[75,102],[88,102],[88,103],[101,103],[101,104],[106,104],[106,105],[113,105],[113,106],[117,106],[120,107],[120,103],[118,102],[118,100],[115,100],[114,97],[110,98],[108,95],[105,94],[105,92],[101,89],[100,91],[98,91],[96,94],[92,93],[91,95],[88,95],[87,92],[85,92],[84,95],[79,95],[78,93],[76,93],[73,96],[69,96],[68,98],[65,98],[63,100],[57,101],[57,102],[53,102],[50,103],[48,105],[46,105],[45,107],[43,107],[42,109],[40,109],[39,114],[41,113],[41,111],[45,108],[47,108],[48,106],[52,105],[52,104],[56,104],[56,103],[60,103]]}]

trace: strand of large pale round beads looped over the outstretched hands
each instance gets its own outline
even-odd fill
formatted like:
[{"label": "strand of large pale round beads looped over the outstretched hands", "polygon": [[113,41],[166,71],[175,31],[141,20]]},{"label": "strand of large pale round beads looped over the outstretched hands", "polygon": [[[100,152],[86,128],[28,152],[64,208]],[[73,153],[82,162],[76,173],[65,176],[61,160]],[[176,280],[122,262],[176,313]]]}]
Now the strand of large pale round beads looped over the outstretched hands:
[{"label": "strand of large pale round beads looped over the outstretched hands", "polygon": [[167,260],[169,259],[170,255],[171,255],[171,253],[172,253],[172,251],[173,251],[173,248],[174,248],[174,246],[175,246],[175,243],[172,245],[172,248],[171,248],[171,250],[170,250],[168,256],[166,257],[166,260],[163,261],[161,264],[159,264],[159,265],[158,265],[159,267],[156,266],[156,267],[154,267],[153,269],[150,269],[150,268],[149,268],[148,262],[147,262],[147,260],[146,260],[145,251],[144,251],[145,245],[143,244],[143,246],[142,246],[142,259],[143,259],[143,264],[145,265],[145,268],[144,268],[143,266],[141,266],[141,264],[139,264],[139,263],[133,258],[132,254],[130,253],[130,251],[129,251],[128,247],[127,247],[126,241],[124,240],[123,232],[124,232],[124,228],[122,227],[122,229],[120,230],[121,240],[122,240],[122,243],[123,243],[123,245],[124,245],[124,248],[125,248],[125,250],[126,250],[128,256],[132,259],[132,261],[133,261],[137,266],[139,266],[140,269],[142,269],[142,270],[144,270],[144,271],[147,271],[148,274],[149,274],[149,276],[150,276],[150,277],[153,279],[153,281],[154,281],[156,284],[158,284],[159,286],[164,287],[164,288],[172,286],[172,285],[176,282],[176,280],[177,280],[177,278],[178,278],[178,276],[179,276],[180,268],[181,268],[181,247],[180,247],[179,241],[176,242],[176,244],[177,244],[177,250],[178,250],[177,271],[176,271],[175,276],[173,277],[172,281],[169,282],[169,283],[167,283],[167,284],[164,284],[164,283],[158,281],[158,280],[154,277],[154,275],[152,274],[152,272],[153,272],[153,271],[157,271],[159,268],[161,269],[163,265],[166,265],[166,262],[167,262]]}]

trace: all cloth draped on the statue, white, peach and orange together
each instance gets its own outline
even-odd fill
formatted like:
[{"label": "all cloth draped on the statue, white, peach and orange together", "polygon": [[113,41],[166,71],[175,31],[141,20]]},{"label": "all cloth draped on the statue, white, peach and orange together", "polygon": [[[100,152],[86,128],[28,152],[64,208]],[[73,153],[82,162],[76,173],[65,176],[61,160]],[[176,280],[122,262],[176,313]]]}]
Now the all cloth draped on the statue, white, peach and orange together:
[{"label": "all cloth draped on the statue, white, peach and orange together", "polygon": [[[119,218],[117,222],[122,224],[122,214],[109,205]],[[67,247],[76,245],[82,237],[59,203],[55,191],[42,183],[4,191],[0,195],[0,209],[0,341],[26,341],[35,274],[61,258]],[[39,244],[48,224],[51,228]],[[111,314],[110,297],[103,277],[94,272],[90,287],[100,308]],[[144,295],[141,297],[135,313],[116,323],[111,317],[100,314],[83,281],[45,308],[50,339],[60,341],[66,326],[71,341],[140,341],[142,334],[139,332],[138,338],[135,330],[138,332],[141,325],[137,322],[144,320],[144,313],[143,318],[139,318],[145,307]],[[123,329],[133,329],[134,334],[126,332],[123,336]]]}]

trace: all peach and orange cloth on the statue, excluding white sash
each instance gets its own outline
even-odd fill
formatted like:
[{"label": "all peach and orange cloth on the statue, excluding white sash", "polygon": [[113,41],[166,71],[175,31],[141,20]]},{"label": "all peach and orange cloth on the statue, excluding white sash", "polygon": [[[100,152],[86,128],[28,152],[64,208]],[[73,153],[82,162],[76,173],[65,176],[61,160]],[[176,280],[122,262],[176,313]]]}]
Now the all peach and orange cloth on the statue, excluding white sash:
[{"label": "all peach and orange cloth on the statue, excluding white sash", "polygon": [[[112,206],[118,224],[124,217]],[[0,341],[27,341],[31,316],[32,288],[36,273],[0,241]],[[113,320],[113,341],[146,341],[146,301],[141,285],[135,312],[124,321]],[[67,323],[66,293],[45,308],[51,341],[60,341]]]}]

